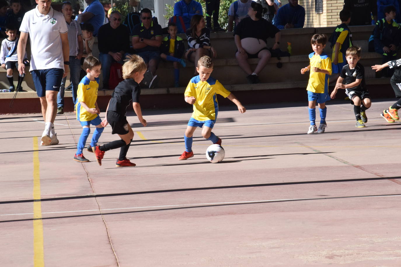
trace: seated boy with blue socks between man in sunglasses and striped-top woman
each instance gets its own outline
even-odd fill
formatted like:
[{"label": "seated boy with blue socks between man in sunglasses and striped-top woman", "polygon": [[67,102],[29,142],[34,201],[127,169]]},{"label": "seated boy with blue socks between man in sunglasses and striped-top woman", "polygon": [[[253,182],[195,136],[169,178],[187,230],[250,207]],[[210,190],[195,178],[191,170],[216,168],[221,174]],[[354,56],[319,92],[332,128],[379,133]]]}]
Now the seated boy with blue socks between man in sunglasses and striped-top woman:
[{"label": "seated boy with blue socks between man in sunglasses and striped-top woman", "polygon": [[180,86],[180,69],[181,64],[184,68],[186,66],[185,60],[181,57],[184,54],[184,40],[177,36],[177,26],[174,22],[168,23],[168,36],[164,37],[162,45],[160,46],[160,57],[167,61],[172,61],[174,66],[174,87]]}]

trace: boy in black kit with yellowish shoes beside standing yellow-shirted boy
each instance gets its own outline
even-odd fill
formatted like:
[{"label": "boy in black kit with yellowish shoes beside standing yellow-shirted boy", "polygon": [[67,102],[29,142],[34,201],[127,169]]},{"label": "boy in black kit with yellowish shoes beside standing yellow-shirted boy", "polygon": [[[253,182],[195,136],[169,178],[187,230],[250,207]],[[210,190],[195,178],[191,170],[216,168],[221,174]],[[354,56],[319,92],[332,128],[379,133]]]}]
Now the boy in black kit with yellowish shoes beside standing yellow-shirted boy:
[{"label": "boy in black kit with yellowish shoes beside standing yellow-shirted boy", "polygon": [[[348,65],[342,67],[340,77],[334,87],[330,97],[335,98],[338,89],[345,89],[345,93],[351,99],[354,105],[356,117],[355,127],[366,127],[364,124],[368,121],[365,111],[371,107],[371,97],[365,84],[365,69],[360,60],[360,48],[351,46],[346,50],[346,60]],[[362,106],[360,106],[362,104]]]}]

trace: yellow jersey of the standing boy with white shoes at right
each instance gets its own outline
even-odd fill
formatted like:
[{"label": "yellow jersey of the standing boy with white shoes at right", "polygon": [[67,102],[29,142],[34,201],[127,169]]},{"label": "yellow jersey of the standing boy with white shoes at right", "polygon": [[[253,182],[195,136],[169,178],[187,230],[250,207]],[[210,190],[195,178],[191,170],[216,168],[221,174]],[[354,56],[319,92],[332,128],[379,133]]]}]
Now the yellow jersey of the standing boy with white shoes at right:
[{"label": "yellow jersey of the standing boy with white shoes at right", "polygon": [[[321,55],[312,52],[309,54],[310,74],[309,82],[306,90],[314,93],[328,93],[328,78],[331,75],[331,60],[326,53]],[[327,70],[329,74],[322,72],[314,72],[313,68],[317,67],[322,70]]]}]

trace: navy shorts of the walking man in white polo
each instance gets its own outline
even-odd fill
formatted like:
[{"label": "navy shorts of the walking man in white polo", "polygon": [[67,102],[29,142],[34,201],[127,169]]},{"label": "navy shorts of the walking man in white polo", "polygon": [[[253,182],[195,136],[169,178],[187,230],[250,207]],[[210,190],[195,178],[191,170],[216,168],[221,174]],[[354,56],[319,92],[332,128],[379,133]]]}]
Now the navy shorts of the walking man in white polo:
[{"label": "navy shorts of the walking man in white polo", "polygon": [[59,91],[64,70],[62,68],[49,68],[47,70],[32,70],[32,80],[36,94],[46,96],[46,91]]}]

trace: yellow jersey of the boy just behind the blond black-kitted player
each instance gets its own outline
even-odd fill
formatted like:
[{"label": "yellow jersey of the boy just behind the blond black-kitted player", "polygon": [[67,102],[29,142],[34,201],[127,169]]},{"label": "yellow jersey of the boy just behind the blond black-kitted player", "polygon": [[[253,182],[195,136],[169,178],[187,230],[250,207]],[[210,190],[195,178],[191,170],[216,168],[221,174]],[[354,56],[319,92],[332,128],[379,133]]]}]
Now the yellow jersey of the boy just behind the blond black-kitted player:
[{"label": "yellow jersey of the boy just behind the blond black-kitted player", "polygon": [[85,76],[82,78],[81,82],[79,82],[77,89],[77,104],[75,104],[75,108],[77,110],[77,120],[90,121],[98,116],[97,114],[87,112],[86,109],[79,103],[85,102],[89,108],[95,108],[98,88],[99,78],[95,78],[94,81],[91,81],[89,78],[87,78],[87,76]]}]

